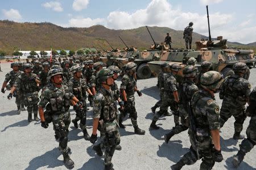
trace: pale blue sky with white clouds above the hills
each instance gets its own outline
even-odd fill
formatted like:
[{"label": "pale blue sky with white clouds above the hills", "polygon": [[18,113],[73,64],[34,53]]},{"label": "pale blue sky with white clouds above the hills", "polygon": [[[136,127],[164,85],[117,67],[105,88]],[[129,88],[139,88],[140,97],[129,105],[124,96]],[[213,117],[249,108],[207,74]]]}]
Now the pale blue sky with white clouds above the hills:
[{"label": "pale blue sky with white clouds above the hills", "polygon": [[101,24],[132,29],[148,25],[176,30],[193,22],[194,32],[208,36],[206,5],[212,37],[243,44],[256,41],[255,0],[1,0],[0,20],[50,22],[61,27]]}]

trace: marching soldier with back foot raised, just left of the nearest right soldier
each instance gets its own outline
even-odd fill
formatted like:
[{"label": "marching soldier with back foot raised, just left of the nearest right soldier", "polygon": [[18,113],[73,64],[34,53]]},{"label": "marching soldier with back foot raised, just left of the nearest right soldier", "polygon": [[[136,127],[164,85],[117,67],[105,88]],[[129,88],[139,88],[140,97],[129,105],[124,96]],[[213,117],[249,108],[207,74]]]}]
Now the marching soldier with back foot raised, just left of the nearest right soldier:
[{"label": "marching soldier with back foot raised, just left of the nearest right soldier", "polygon": [[189,117],[188,117],[188,102],[191,102],[192,96],[199,91],[194,80],[196,78],[197,69],[194,66],[185,66],[183,69],[184,80],[180,85],[180,94],[179,94],[179,116],[180,116],[180,125],[175,126],[170,133],[164,135],[164,141],[168,143],[171,137],[175,134],[179,134],[182,131],[185,131],[189,127]]}]

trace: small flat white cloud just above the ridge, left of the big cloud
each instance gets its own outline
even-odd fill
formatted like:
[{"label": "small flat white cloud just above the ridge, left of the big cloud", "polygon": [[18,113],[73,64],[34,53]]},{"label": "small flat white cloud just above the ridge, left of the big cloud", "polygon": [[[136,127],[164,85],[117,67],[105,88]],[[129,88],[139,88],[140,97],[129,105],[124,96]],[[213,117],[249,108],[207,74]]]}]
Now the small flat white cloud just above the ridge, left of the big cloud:
[{"label": "small flat white cloud just above the ridge, left of the big cloud", "polygon": [[68,22],[69,22],[69,27],[90,27],[92,25],[103,24],[104,19],[72,18]]}]

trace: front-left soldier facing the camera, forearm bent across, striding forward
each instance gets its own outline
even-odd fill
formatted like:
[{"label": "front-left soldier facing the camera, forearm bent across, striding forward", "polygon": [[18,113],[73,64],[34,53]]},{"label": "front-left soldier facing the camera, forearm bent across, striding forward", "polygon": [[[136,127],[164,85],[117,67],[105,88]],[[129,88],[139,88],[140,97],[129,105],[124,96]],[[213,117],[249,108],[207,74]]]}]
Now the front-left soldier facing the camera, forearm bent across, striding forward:
[{"label": "front-left soldier facing the camera, forearm bent across, striding forward", "polygon": [[[61,69],[49,70],[47,77],[49,86],[42,92],[39,115],[43,128],[48,128],[48,124],[52,121],[53,130],[59,139],[59,150],[63,154],[64,164],[67,168],[73,168],[74,162],[69,157],[71,149],[68,147],[68,126],[71,122],[69,105],[72,103],[81,107],[82,104],[68,90],[68,86],[62,84],[62,76]],[[46,107],[45,112],[44,107]]]}]

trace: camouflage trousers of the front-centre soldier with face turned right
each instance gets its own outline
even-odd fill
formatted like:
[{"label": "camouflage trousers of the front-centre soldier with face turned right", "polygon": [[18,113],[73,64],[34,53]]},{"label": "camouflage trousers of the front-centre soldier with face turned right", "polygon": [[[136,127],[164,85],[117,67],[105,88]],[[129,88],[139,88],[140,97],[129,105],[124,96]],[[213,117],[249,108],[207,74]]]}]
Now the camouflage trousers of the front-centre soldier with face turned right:
[{"label": "camouflage trousers of the front-centre soldier with face turned right", "polygon": [[106,148],[104,164],[110,165],[112,162],[112,156],[115,151],[115,146],[120,144],[119,131],[113,131],[112,133],[106,133],[104,138],[104,146]]}]

